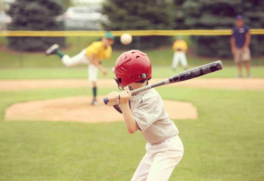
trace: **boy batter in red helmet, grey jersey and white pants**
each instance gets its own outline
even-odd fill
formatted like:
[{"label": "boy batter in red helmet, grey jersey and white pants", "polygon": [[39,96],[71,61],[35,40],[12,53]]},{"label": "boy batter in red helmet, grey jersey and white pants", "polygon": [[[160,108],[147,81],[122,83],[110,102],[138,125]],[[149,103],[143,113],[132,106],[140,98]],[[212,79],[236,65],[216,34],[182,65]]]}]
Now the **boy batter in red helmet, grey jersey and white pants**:
[{"label": "boy batter in red helmet, grey jersey and white pants", "polygon": [[145,90],[137,95],[131,95],[130,91],[149,84],[152,74],[148,56],[138,50],[124,52],[118,57],[113,71],[118,86],[127,87],[120,93],[108,94],[107,105],[114,106],[123,113],[130,134],[140,130],[147,141],[147,153],[131,180],[168,180],[183,156],[179,131],[169,119],[155,89]]}]

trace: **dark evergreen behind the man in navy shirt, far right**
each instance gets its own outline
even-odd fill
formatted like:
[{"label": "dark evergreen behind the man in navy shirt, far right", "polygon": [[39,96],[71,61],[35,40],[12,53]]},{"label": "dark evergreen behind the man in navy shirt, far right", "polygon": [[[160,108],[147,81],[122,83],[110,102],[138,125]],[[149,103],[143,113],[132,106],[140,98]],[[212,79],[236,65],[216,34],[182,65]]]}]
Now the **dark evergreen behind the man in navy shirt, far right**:
[{"label": "dark evergreen behind the man in navy shirt, far right", "polygon": [[[176,0],[177,1],[177,0]],[[264,27],[264,1],[254,0],[186,0],[182,4],[184,24],[189,29],[232,29],[235,16],[242,14],[250,28]],[[193,37],[198,55],[231,57],[230,36]],[[251,36],[252,55],[263,54],[263,36]]]}]

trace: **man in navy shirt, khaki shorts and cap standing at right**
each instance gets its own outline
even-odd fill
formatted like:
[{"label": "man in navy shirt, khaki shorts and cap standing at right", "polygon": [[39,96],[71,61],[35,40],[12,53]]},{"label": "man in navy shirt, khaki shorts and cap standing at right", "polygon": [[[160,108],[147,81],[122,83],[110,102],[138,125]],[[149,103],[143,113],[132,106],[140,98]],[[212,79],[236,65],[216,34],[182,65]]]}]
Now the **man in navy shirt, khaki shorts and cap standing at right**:
[{"label": "man in navy shirt, khaki shorts and cap standing at right", "polygon": [[231,51],[238,67],[238,77],[242,77],[242,62],[245,64],[247,76],[251,77],[249,43],[249,26],[243,23],[243,16],[237,15],[236,27],[233,29],[231,36]]}]

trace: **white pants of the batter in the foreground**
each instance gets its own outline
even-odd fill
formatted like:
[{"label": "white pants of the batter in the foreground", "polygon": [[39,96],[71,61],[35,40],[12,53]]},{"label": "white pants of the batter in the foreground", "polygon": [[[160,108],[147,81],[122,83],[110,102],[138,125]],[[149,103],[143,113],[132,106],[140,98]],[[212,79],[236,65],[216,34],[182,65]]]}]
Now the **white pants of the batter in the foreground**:
[{"label": "white pants of the batter in the foreground", "polygon": [[183,157],[183,144],[177,135],[160,143],[147,143],[146,151],[131,181],[167,181]]}]

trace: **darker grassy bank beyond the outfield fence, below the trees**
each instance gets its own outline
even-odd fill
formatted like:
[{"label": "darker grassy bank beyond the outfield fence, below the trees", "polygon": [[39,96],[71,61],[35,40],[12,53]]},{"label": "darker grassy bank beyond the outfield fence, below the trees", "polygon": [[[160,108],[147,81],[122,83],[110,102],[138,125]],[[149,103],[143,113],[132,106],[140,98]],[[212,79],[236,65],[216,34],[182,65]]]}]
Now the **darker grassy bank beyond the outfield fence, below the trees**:
[{"label": "darker grassy bank beyond the outfield fence, below the trees", "polygon": [[[86,48],[93,41],[100,40],[98,37],[67,37],[66,44],[67,48],[62,49],[63,52],[69,56],[74,56],[81,52],[82,49]],[[188,45],[193,46],[193,42],[190,37],[186,36],[185,40]],[[119,41],[118,38],[116,41]],[[5,37],[0,37],[0,45],[7,44]],[[128,49],[127,49],[128,50]],[[126,50],[126,51],[127,51]],[[113,50],[111,59],[104,60],[103,65],[112,67],[118,56],[125,50]],[[173,58],[173,51],[170,46],[163,47],[159,49],[149,49],[144,50],[149,56],[153,66],[170,66]],[[5,49],[0,49],[0,68],[64,68],[60,59],[56,55],[45,56],[45,52],[14,52],[6,51]],[[187,55],[187,60],[190,66],[200,66],[206,63],[219,60],[219,58],[214,57],[196,57]],[[234,65],[232,59],[221,59],[225,65]],[[254,66],[264,66],[264,57],[252,58],[251,64]],[[85,67],[85,65],[83,66]],[[1,69],[0,69],[1,70]]]}]

